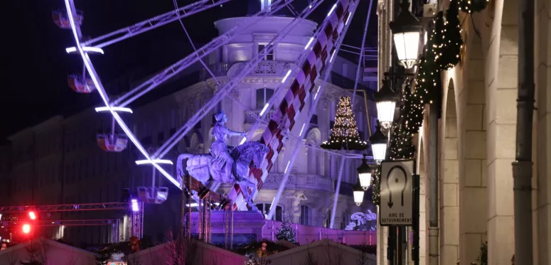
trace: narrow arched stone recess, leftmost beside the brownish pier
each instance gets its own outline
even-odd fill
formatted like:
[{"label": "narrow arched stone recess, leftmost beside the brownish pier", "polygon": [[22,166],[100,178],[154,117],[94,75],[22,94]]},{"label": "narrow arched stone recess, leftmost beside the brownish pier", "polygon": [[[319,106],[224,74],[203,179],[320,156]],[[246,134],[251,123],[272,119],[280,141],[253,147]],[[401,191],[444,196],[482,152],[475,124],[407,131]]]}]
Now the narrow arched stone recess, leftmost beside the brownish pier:
[{"label": "narrow arched stone recess, leftmost beside the brownish pier", "polygon": [[439,141],[440,263],[459,258],[459,148],[454,79],[450,78],[442,100]]}]

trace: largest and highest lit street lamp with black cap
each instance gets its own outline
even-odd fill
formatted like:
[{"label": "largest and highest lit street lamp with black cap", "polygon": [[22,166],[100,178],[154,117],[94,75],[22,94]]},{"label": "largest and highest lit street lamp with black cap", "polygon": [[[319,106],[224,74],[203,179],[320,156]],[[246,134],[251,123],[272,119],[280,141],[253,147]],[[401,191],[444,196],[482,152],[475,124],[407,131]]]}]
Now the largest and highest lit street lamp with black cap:
[{"label": "largest and highest lit street lamp with black cap", "polygon": [[407,69],[410,69],[417,61],[419,55],[419,37],[422,24],[410,12],[410,1],[402,0],[400,14],[396,21],[390,22],[392,37],[396,47],[398,60]]}]

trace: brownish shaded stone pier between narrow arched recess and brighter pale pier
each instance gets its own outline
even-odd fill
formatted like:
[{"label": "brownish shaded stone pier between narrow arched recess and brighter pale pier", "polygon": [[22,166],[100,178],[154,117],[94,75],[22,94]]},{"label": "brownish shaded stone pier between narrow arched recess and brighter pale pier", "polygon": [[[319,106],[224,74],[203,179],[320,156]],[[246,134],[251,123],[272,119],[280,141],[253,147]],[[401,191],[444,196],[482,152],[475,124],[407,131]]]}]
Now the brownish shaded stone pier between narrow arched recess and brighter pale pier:
[{"label": "brownish shaded stone pier between narrow arched recess and brighter pale pier", "polygon": [[[481,20],[478,17],[478,21]],[[474,19],[477,23],[477,19]],[[488,60],[492,50],[484,51],[474,28],[469,23],[466,34],[466,56],[462,63],[462,84],[454,86],[458,120],[459,155],[459,260],[461,264],[476,261],[482,242],[486,241],[488,193],[486,190],[486,87]],[[494,40],[495,41],[495,40]],[[486,54],[486,55],[485,55]],[[509,258],[510,259],[510,258]],[[495,263],[494,263],[495,264]],[[500,263],[498,263],[500,264]],[[501,264],[507,264],[503,261]]]}]

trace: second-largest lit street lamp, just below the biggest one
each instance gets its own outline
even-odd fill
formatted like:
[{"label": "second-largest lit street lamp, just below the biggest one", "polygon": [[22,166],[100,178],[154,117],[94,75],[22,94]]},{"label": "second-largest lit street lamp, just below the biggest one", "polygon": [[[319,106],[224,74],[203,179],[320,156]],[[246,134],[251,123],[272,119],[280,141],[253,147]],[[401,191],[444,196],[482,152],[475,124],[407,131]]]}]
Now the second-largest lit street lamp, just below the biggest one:
[{"label": "second-largest lit street lamp, just below the biggest one", "polygon": [[385,72],[385,80],[383,80],[383,87],[373,94],[375,103],[377,104],[377,118],[383,126],[388,127],[394,121],[394,112],[396,108],[396,102],[398,97],[394,90],[390,88],[390,80],[388,79],[388,73]]}]

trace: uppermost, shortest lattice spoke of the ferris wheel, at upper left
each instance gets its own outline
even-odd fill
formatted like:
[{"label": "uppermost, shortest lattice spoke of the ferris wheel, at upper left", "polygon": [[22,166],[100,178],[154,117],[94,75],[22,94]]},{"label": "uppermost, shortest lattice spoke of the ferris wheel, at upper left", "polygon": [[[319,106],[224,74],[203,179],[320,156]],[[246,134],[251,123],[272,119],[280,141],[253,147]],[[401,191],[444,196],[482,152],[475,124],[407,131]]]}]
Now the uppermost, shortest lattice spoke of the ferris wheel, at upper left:
[{"label": "uppermost, shortest lattice spoke of the ferris wheel, at upper left", "polygon": [[[195,3],[188,4],[187,6],[183,6],[179,9],[175,9],[173,11],[163,13],[159,16],[155,16],[154,18],[149,18],[145,21],[135,23],[132,26],[120,28],[117,31],[107,33],[97,38],[92,38],[91,40],[87,40],[85,43],[82,43],[82,45],[103,48],[108,45],[118,43],[121,40],[126,40],[127,38],[138,36],[141,33],[151,31],[154,28],[159,28],[160,26],[164,26],[168,23],[178,20],[179,18],[186,18],[195,13],[199,13],[200,11],[211,9],[215,6],[220,6],[221,4],[227,3],[229,1],[232,0],[196,1]],[[101,41],[104,42],[100,43]]]}]

